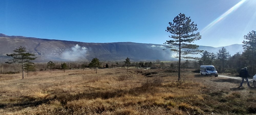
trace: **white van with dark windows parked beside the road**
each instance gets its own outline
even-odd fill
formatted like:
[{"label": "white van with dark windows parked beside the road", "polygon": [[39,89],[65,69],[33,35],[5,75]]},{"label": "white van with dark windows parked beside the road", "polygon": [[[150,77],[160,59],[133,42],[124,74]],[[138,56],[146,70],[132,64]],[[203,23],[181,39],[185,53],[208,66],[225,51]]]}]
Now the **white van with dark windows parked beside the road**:
[{"label": "white van with dark windows parked beside the road", "polygon": [[218,72],[213,65],[201,65],[200,73],[201,75],[214,75],[218,77]]}]

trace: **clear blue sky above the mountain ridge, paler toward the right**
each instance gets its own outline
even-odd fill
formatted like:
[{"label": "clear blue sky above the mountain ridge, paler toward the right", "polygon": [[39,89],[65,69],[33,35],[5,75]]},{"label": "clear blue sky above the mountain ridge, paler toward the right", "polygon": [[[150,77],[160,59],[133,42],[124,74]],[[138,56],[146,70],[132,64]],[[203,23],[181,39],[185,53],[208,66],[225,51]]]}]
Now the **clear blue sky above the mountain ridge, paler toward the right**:
[{"label": "clear blue sky above the mountain ridge, paler toward the right", "polygon": [[[194,44],[221,47],[242,44],[244,35],[256,31],[256,0],[243,0],[238,6],[239,2],[0,0],[0,33],[80,42],[163,44],[171,35],[165,31],[168,22],[184,13],[202,35]],[[232,8],[235,5],[238,7]],[[221,20],[214,21],[218,18]],[[217,23],[209,25],[212,22]]]}]

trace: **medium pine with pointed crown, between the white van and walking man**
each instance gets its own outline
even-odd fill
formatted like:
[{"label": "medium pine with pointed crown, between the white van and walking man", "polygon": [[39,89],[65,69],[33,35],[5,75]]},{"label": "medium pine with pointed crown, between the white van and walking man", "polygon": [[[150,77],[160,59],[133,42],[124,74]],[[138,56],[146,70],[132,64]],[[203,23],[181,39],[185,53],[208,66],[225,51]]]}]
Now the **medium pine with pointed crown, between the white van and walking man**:
[{"label": "medium pine with pointed crown, between the white van and walking man", "polygon": [[227,51],[226,48],[222,47],[219,52],[217,52],[217,58],[221,61],[222,63],[222,72],[224,72],[224,62],[230,58],[230,54]]}]

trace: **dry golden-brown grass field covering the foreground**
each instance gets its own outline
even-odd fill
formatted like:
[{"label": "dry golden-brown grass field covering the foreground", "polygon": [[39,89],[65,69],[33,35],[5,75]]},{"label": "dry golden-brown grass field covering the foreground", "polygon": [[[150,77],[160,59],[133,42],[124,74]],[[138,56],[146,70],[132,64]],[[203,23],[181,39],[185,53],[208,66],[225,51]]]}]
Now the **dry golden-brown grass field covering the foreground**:
[{"label": "dry golden-brown grass field covering the foreground", "polygon": [[[91,69],[0,75],[0,114],[255,114],[255,89],[182,70]],[[222,80],[220,80],[222,79]],[[223,80],[224,79],[224,80]]]}]

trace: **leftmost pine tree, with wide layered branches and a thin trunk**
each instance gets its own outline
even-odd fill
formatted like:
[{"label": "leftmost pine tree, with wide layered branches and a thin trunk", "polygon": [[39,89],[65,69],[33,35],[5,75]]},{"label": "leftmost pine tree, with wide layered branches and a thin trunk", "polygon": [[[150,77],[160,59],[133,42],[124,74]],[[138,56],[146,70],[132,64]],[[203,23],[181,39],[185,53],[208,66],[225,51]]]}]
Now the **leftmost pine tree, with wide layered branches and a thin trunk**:
[{"label": "leftmost pine tree, with wide layered branches and a thin trunk", "polygon": [[26,52],[26,48],[21,46],[19,47],[19,49],[15,49],[13,51],[15,53],[6,54],[7,56],[13,57],[13,59],[5,63],[12,64],[17,62],[20,66],[22,66],[22,78],[24,79],[24,70],[26,68],[25,64],[29,63],[31,60],[35,60],[37,57],[31,57],[35,56],[35,54]]}]

